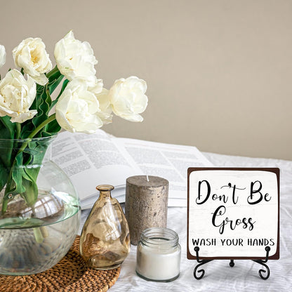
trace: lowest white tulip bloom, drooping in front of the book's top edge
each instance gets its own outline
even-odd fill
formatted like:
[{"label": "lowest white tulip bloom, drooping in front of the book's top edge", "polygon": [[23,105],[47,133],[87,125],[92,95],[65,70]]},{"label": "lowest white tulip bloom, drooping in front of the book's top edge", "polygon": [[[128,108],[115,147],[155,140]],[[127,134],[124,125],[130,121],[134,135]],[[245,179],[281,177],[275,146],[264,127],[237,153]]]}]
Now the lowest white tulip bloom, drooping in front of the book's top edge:
[{"label": "lowest white tulip bloom, drooping in front of the book's top edge", "polygon": [[58,124],[72,133],[95,133],[102,126],[98,112],[98,99],[82,79],[70,81],[55,105]]}]

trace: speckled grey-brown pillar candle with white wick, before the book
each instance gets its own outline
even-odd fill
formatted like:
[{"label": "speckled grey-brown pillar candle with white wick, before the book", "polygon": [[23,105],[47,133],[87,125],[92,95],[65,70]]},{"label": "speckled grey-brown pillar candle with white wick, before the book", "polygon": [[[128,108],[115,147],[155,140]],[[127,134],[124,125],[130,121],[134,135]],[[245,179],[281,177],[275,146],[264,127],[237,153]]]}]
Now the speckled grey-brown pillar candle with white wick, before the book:
[{"label": "speckled grey-brown pillar candle with white wick, before the book", "polygon": [[152,175],[135,175],[126,180],[125,213],[131,244],[150,227],[166,227],[168,180]]}]

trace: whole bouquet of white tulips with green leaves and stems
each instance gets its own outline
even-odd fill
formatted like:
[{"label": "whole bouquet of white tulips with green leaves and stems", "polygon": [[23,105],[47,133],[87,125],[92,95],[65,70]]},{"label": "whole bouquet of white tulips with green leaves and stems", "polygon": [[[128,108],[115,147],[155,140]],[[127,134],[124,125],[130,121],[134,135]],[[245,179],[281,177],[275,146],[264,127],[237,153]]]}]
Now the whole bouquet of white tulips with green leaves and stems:
[{"label": "whole bouquet of white tulips with green leaves and stems", "polygon": [[[23,40],[13,49],[18,69],[0,77],[0,140],[11,141],[0,152],[0,191],[2,213],[16,194],[32,206],[38,197],[38,168],[22,168],[32,160],[41,164],[46,149],[34,155],[39,147],[33,138],[56,135],[61,128],[69,132],[94,133],[112,122],[112,112],[128,121],[142,121],[140,113],[147,107],[146,82],[138,77],[121,78],[110,90],[95,77],[97,60],[88,42],[81,42],[69,32],[55,44],[55,62],[39,38]],[[6,51],[0,45],[0,67],[6,62]],[[52,69],[53,68],[53,69]],[[62,86],[58,85],[62,82]],[[56,88],[58,96],[51,98]],[[53,114],[51,114],[53,112]],[[22,141],[15,150],[13,140]]]}]

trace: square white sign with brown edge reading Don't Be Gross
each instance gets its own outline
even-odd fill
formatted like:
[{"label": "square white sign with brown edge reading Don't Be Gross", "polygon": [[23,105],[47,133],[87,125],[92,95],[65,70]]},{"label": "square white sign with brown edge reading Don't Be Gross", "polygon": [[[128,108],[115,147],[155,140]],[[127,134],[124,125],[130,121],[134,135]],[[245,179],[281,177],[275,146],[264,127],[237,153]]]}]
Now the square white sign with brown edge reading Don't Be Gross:
[{"label": "square white sign with brown edge reading Don't Be Gross", "polygon": [[187,258],[279,259],[279,168],[189,168]]}]

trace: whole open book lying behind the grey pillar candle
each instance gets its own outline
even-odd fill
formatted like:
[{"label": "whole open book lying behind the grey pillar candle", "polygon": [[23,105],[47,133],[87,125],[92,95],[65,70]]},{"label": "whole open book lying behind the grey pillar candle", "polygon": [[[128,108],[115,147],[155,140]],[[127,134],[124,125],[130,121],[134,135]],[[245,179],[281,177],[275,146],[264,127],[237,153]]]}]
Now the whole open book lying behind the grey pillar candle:
[{"label": "whole open book lying behind the grey pillar candle", "polygon": [[154,175],[169,182],[168,206],[187,206],[187,168],[212,166],[196,147],[61,132],[53,142],[52,159],[72,180],[81,208],[98,199],[97,185],[114,185],[112,197],[125,201],[126,178]]}]

